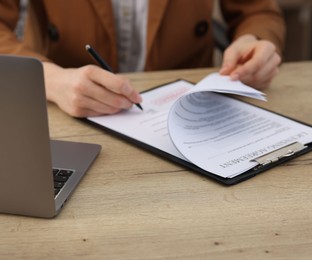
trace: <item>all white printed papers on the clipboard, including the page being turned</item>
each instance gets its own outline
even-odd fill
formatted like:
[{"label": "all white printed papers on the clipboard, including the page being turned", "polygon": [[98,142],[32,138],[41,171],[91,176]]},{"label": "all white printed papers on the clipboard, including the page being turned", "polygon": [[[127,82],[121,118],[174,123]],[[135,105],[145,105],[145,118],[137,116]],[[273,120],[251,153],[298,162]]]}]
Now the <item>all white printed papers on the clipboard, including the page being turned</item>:
[{"label": "all white printed papers on the clipboard, including the page being turned", "polygon": [[224,178],[255,167],[259,156],[312,141],[311,127],[216,92],[265,100],[214,73],[195,86],[180,80],[143,93],[143,112],[133,106],[88,119]]}]

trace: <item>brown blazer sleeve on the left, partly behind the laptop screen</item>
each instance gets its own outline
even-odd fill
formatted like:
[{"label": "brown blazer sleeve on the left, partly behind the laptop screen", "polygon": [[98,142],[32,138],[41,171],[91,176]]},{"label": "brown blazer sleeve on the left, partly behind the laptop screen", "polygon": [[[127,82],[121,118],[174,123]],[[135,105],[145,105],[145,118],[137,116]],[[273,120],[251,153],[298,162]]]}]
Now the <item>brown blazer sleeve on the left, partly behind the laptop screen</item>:
[{"label": "brown blazer sleeve on the left, partly behind the laptop screen", "polygon": [[0,54],[31,56],[40,60],[48,60],[43,55],[33,51],[20,41],[16,34],[20,15],[19,0],[0,1]]}]

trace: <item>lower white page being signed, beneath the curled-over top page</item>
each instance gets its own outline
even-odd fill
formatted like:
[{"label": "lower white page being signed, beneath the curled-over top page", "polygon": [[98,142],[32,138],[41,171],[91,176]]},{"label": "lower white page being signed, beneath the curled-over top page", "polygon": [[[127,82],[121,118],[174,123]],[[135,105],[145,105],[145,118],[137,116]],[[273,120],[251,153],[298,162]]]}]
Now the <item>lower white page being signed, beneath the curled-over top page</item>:
[{"label": "lower white page being signed, beneath the curled-over top page", "polygon": [[151,145],[171,155],[185,159],[171,142],[168,130],[168,112],[181,95],[194,85],[177,81],[165,87],[155,88],[142,94],[143,111],[133,106],[119,114],[89,117],[90,121],[108,127],[116,132]]}]

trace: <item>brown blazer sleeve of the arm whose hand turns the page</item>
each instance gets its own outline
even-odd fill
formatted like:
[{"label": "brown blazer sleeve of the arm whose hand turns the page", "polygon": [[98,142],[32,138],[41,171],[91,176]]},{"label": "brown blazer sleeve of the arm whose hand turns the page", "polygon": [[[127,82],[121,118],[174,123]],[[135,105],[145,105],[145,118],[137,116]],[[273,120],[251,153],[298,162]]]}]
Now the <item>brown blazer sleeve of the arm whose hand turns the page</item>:
[{"label": "brown blazer sleeve of the arm whose hand turns the page", "polygon": [[282,54],[285,40],[285,23],[275,0],[220,0],[220,8],[228,25],[230,40],[244,34],[275,44]]}]

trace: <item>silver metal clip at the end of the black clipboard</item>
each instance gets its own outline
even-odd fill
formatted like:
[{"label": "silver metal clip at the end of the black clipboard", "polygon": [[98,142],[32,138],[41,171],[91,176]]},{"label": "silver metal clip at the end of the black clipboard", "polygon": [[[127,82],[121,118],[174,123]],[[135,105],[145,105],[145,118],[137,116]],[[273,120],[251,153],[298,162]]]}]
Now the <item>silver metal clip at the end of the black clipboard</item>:
[{"label": "silver metal clip at the end of the black clipboard", "polygon": [[275,150],[273,152],[267,153],[265,155],[262,155],[258,158],[253,159],[252,161],[256,161],[261,166],[265,166],[270,163],[277,162],[278,160],[285,158],[285,157],[291,157],[294,154],[306,149],[307,146],[303,145],[302,143],[295,142],[291,143],[287,146],[284,146],[278,150]]}]

